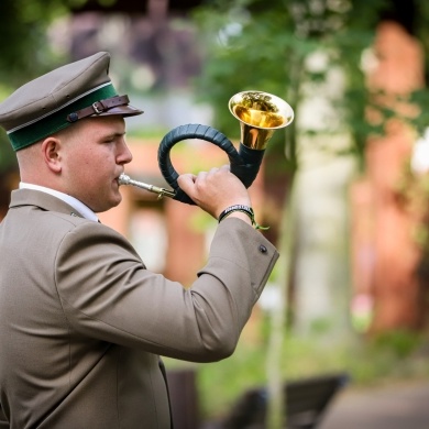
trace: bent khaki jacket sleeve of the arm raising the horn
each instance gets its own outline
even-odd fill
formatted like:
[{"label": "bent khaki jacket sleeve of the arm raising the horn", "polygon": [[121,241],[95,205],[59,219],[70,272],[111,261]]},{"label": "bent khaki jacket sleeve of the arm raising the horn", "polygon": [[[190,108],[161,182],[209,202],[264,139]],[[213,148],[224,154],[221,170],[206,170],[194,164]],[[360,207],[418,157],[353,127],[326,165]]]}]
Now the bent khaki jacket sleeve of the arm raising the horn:
[{"label": "bent khaki jacket sleeve of the arm raising the horn", "polygon": [[147,271],[131,244],[79,223],[59,246],[56,287],[80,334],[193,362],[230,355],[278,257],[248,223],[229,218],[190,288]]}]

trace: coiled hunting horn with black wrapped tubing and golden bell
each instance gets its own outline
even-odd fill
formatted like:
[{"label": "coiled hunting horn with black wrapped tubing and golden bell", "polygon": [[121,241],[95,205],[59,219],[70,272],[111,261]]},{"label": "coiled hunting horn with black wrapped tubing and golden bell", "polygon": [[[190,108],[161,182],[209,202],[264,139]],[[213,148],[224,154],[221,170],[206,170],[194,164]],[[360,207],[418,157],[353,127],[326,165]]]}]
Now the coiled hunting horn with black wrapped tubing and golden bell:
[{"label": "coiled hunting horn with black wrapped tubing and golden bell", "polygon": [[180,202],[195,205],[177,185],[179,175],[173,167],[169,152],[178,142],[199,139],[223,150],[228,155],[231,173],[249,188],[260,170],[265,147],[274,131],[292,123],[294,110],[286,101],[272,94],[252,90],[235,94],[228,106],[241,127],[239,152],[224,134],[211,127],[191,123],[180,125],[163,138],[158,148],[161,173],[173,190],[133,180],[125,174],[119,177],[119,185],[133,185],[157,194],[158,198],[165,196]]}]

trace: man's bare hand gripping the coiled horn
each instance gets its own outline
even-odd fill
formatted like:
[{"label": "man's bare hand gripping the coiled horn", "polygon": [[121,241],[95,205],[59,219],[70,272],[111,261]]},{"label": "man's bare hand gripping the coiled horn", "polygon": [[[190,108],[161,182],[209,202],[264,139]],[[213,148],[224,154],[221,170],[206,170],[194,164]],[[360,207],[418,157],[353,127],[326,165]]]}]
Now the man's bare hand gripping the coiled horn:
[{"label": "man's bare hand gripping the coiled horn", "polygon": [[[230,172],[229,165],[198,173],[197,176],[183,174],[177,178],[177,184],[197,206],[216,219],[227,207],[252,205],[248,189]],[[246,215],[240,212],[233,212],[230,216],[249,220]]]}]

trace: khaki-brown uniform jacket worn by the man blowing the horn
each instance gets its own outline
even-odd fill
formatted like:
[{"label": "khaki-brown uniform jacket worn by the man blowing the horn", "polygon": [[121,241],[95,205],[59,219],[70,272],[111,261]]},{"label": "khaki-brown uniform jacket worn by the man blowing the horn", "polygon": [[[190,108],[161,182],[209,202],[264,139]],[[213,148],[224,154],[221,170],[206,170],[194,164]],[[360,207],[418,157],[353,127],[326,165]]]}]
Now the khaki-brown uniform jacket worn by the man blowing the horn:
[{"label": "khaki-brown uniform jacket worn by the man blowing the horn", "polygon": [[169,428],[158,356],[230,355],[277,257],[228,218],[185,289],[112,229],[13,191],[0,223],[0,428]]}]

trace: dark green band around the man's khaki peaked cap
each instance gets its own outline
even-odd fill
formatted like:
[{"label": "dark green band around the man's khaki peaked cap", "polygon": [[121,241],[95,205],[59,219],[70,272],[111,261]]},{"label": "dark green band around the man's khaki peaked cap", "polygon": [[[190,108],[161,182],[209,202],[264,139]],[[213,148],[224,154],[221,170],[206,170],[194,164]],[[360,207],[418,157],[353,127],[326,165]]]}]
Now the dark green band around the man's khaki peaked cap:
[{"label": "dark green band around the man's khaki peaked cap", "polygon": [[41,118],[40,120],[34,121],[28,125],[9,131],[9,140],[13,150],[16,152],[21,148],[30,146],[35,142],[38,142],[42,139],[47,138],[48,135],[59,130],[72,125],[72,122],[67,121],[67,116],[69,113],[85,109],[96,101],[114,97],[117,95],[118,94],[114,90],[113,85],[109,84],[107,86],[102,86],[101,88],[85,95],[78,100],[59,108],[56,112],[50,113],[45,118]]}]

